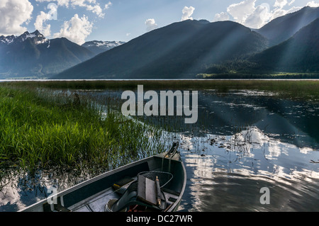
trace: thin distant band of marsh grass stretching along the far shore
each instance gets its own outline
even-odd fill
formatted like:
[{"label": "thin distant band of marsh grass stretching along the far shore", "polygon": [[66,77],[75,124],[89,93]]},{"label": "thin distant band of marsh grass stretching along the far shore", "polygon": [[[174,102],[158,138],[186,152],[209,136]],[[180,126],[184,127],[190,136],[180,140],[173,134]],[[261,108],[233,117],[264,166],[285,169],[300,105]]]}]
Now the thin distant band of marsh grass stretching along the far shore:
[{"label": "thin distant band of marsh grass stretching along the far shore", "polygon": [[41,80],[3,81],[1,86],[41,87],[48,89],[122,89],[135,90],[138,85],[145,89],[216,89],[227,92],[232,89],[252,89],[278,92],[281,96],[319,99],[319,80],[316,79],[167,79],[167,80]]}]

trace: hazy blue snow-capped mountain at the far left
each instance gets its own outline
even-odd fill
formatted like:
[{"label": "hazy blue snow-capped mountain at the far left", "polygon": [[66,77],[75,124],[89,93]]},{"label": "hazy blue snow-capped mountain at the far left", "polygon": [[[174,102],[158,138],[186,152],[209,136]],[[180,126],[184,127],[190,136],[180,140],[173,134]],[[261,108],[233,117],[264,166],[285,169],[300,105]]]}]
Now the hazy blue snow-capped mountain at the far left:
[{"label": "hazy blue snow-capped mountain at the far left", "polygon": [[47,39],[38,30],[0,36],[0,79],[48,77],[94,57],[67,38]]}]

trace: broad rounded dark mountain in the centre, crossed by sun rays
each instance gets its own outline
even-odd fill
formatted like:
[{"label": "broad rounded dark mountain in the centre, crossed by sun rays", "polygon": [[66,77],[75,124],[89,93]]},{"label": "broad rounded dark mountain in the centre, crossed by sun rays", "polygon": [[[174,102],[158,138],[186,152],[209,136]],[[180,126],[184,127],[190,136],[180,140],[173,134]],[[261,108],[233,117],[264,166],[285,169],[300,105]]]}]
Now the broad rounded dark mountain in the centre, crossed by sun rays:
[{"label": "broad rounded dark mountain in the centre, crossed by sun rays", "polygon": [[57,79],[194,77],[213,62],[267,48],[262,35],[232,21],[182,21],[152,30],[57,74]]}]

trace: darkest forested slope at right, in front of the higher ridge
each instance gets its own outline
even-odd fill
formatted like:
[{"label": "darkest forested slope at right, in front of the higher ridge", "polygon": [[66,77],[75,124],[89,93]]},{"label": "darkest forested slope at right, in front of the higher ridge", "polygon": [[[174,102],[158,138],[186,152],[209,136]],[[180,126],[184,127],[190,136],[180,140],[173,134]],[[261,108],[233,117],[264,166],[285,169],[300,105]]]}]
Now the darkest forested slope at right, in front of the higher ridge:
[{"label": "darkest forested slope at right, in front of the higher ridge", "polygon": [[279,45],[242,59],[214,64],[202,73],[234,77],[278,72],[319,73],[319,18]]}]

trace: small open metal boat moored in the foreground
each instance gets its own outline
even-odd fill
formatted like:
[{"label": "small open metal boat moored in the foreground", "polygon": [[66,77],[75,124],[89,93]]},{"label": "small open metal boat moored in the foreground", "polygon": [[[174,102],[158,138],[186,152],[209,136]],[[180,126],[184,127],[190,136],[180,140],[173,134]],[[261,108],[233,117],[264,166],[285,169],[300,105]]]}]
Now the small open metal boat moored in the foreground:
[{"label": "small open metal boat moored in the foreground", "polygon": [[164,153],[121,166],[20,212],[175,212],[186,186],[179,142]]}]

